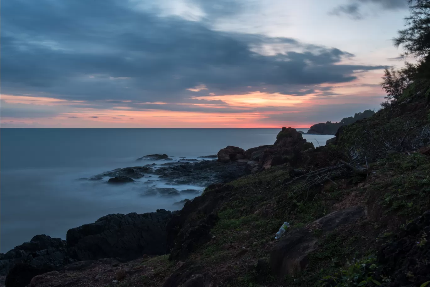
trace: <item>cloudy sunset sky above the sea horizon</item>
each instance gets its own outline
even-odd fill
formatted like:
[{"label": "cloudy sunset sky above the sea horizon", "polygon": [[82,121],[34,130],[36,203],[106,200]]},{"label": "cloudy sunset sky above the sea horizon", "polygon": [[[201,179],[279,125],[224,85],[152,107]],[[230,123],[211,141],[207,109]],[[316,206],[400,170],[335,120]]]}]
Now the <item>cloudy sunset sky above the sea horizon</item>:
[{"label": "cloudy sunset sky above the sea horizon", "polygon": [[406,0],[2,0],[0,126],[310,127],[384,100]]}]

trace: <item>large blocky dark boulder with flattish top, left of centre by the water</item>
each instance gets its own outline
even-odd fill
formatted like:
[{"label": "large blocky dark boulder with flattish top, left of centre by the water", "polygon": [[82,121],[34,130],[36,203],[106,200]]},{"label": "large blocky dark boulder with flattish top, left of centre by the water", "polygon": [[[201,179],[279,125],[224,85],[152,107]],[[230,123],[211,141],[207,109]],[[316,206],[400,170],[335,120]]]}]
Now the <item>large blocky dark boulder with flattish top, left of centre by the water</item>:
[{"label": "large blocky dark boulder with flattish top, left of centre by the water", "polygon": [[95,223],[67,231],[68,255],[81,261],[165,254],[166,224],[171,217],[172,213],[163,209],[103,216]]}]

